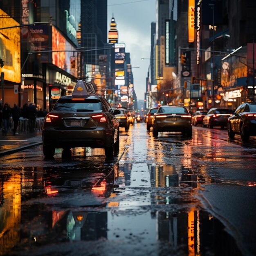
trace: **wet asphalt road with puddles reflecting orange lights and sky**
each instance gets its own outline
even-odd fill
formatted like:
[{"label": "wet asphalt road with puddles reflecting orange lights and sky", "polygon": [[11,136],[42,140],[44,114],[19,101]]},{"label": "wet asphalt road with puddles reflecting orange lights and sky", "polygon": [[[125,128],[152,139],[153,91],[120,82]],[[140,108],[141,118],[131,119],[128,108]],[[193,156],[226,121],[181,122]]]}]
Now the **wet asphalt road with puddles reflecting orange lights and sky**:
[{"label": "wet asphalt road with puddles reflecting orange lights and sky", "polygon": [[101,149],[0,158],[0,255],[256,255],[256,140],[121,128]]}]

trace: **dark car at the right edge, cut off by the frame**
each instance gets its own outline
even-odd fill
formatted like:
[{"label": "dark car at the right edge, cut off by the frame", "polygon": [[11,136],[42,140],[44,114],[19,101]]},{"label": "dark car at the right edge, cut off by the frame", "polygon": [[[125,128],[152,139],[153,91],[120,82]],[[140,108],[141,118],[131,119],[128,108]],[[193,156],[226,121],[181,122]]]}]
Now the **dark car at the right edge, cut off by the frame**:
[{"label": "dark car at the right edge, cut off by the frame", "polygon": [[256,136],[256,102],[243,103],[228,119],[228,135],[230,139],[240,134],[243,141]]}]

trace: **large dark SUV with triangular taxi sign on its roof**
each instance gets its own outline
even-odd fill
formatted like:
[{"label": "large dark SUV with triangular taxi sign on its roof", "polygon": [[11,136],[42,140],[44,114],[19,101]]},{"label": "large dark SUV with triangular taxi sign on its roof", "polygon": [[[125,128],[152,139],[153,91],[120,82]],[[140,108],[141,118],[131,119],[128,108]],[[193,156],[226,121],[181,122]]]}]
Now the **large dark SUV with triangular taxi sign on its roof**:
[{"label": "large dark SUV with triangular taxi sign on its roof", "polygon": [[106,157],[119,150],[119,122],[108,101],[95,94],[90,83],[78,81],[72,96],[59,98],[43,123],[43,153],[55,148],[104,148]]}]

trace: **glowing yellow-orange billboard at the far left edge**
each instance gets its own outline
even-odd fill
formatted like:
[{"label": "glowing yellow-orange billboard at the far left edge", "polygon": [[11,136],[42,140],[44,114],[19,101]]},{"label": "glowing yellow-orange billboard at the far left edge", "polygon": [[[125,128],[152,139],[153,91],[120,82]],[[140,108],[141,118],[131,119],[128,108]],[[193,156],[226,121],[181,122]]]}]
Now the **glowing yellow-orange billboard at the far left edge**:
[{"label": "glowing yellow-orange billboard at the far left edge", "polygon": [[[0,27],[13,27],[20,24],[13,20],[0,9]],[[20,83],[20,28],[2,29],[0,33],[0,58],[4,66],[0,72],[4,72],[4,80]]]}]

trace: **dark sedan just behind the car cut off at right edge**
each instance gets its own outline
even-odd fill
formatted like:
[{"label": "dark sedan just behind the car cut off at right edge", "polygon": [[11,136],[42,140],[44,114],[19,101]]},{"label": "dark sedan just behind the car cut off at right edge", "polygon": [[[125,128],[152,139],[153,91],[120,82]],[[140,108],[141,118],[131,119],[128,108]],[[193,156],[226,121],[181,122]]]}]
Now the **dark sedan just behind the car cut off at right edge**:
[{"label": "dark sedan just behind the car cut off at right edge", "polygon": [[213,126],[220,126],[224,129],[227,126],[228,118],[234,114],[231,109],[225,108],[211,108],[203,119],[203,127],[213,128]]}]

